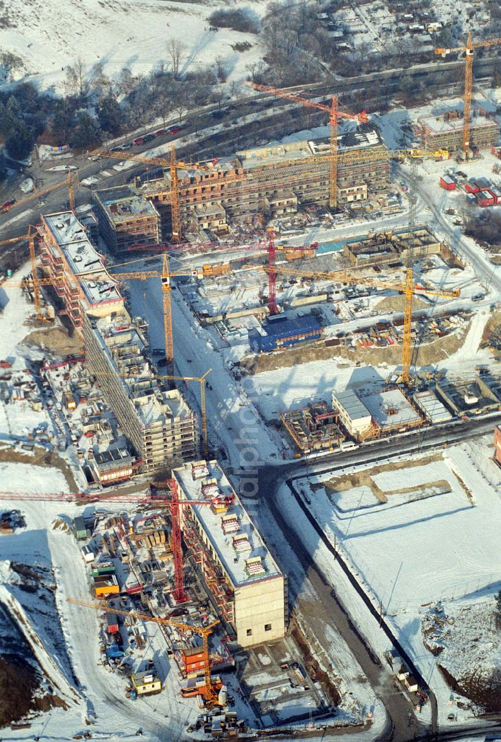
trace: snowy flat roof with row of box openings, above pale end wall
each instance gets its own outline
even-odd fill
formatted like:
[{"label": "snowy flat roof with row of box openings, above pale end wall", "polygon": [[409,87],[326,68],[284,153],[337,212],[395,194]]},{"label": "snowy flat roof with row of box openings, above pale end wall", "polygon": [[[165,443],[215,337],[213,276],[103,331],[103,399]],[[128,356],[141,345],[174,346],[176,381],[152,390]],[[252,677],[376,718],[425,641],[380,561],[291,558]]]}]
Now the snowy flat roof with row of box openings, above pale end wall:
[{"label": "snowy flat roof with row of box openings, above pale end wall", "polygon": [[[193,479],[192,467],[206,467],[206,476],[200,479]],[[226,513],[215,513],[209,505],[192,505],[191,508],[196,513],[207,539],[209,539],[215,554],[217,554],[217,558],[235,587],[266,580],[269,577],[278,577],[282,574],[217,461],[184,464],[182,467],[172,470],[172,473],[180,485],[180,499],[207,499],[207,502],[210,502],[215,496],[215,492],[212,492],[210,496],[204,497],[202,485],[207,484],[211,480],[215,480],[217,490],[223,496],[234,496],[234,502]],[[238,530],[225,534],[223,531],[223,518],[230,515],[235,516]],[[248,541],[248,548],[246,551],[238,551],[235,549],[234,539],[245,537]],[[263,571],[255,574],[255,576],[249,574],[246,569],[246,562],[249,559],[261,559]]]}]

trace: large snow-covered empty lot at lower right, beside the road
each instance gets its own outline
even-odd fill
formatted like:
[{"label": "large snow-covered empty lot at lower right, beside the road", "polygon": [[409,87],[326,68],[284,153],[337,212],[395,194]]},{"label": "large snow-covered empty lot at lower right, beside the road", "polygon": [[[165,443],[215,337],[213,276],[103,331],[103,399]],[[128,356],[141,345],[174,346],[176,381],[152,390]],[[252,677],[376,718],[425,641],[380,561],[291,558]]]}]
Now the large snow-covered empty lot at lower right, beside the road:
[{"label": "large snow-covered empty lot at lower right, beside the road", "polygon": [[[447,600],[453,615],[456,602],[474,605],[479,596],[492,597],[500,588],[501,470],[492,451],[491,436],[484,436],[449,447],[428,463],[416,455],[407,467],[376,473],[373,481],[386,493],[386,503],[367,486],[350,490],[344,485],[341,496],[327,495],[322,482],[328,475],[296,483],[298,491],[308,493],[308,507],[319,525],[375,605],[382,604],[419,671],[430,679],[440,715],[464,712],[448,706],[451,689],[436,668],[436,657],[423,646],[421,620],[436,601]],[[370,470],[358,471],[371,476]],[[350,467],[343,476],[356,472]],[[335,488],[335,482],[330,486]],[[454,667],[451,657],[449,666]]]}]

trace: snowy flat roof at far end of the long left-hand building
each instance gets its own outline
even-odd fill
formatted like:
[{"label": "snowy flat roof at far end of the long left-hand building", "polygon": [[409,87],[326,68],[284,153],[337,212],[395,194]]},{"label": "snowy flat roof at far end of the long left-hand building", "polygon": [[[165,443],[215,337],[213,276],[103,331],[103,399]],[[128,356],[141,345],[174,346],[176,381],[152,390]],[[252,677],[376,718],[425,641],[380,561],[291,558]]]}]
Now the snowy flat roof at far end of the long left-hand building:
[{"label": "snowy flat roof at far end of the long left-hand building", "polygon": [[104,258],[97,252],[73,211],[43,217],[74,275],[102,271]]}]

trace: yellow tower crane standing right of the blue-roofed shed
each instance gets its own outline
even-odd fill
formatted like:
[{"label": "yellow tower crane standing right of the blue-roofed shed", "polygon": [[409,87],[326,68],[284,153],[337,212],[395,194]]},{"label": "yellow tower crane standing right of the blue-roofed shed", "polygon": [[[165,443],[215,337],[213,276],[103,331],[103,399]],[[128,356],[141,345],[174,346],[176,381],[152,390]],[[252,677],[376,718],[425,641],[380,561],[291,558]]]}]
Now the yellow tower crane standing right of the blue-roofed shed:
[{"label": "yellow tower crane standing right of the blue-roofed shed", "polygon": [[[344,273],[344,271],[332,271],[332,272],[308,272],[300,269],[289,269],[287,266],[276,266],[276,271],[285,273],[286,275],[301,276],[303,278],[312,278],[313,280],[338,280],[345,283],[364,283],[370,286],[376,286],[381,289],[392,289],[405,295],[404,305],[404,338],[402,341],[402,372],[399,377],[399,382],[405,384],[407,387],[410,386],[410,352],[411,352],[411,327],[412,327],[412,298],[416,291],[416,284],[414,282],[413,270],[407,268],[405,272],[405,282],[402,281],[378,281],[374,278],[364,278],[361,276],[353,276]],[[266,270],[268,270],[266,266]],[[426,294],[428,296],[436,296],[447,299],[455,299],[460,295],[460,289],[452,289],[451,291],[444,291],[438,289],[426,289],[419,286],[419,294]]]}]

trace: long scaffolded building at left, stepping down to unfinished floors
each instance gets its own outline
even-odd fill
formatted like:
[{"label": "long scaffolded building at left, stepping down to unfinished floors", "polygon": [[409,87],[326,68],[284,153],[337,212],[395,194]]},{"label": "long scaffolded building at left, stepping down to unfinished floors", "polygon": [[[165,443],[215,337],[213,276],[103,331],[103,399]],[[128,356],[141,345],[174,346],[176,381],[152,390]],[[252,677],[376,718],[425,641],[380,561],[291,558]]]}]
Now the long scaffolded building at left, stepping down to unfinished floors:
[{"label": "long scaffolded building at left, stepping down to unfinished floors", "polygon": [[72,211],[42,217],[42,264],[143,472],[198,455],[197,416],[177,389],[160,387],[148,361],[145,324],[131,319],[118,284]]}]

